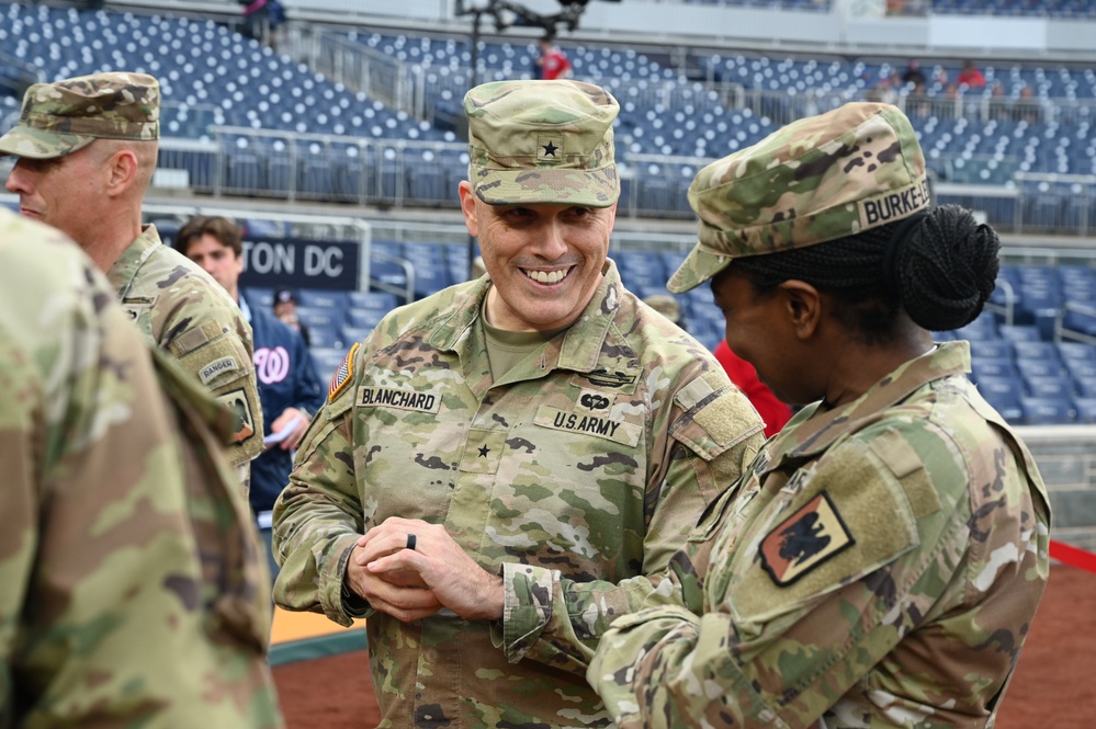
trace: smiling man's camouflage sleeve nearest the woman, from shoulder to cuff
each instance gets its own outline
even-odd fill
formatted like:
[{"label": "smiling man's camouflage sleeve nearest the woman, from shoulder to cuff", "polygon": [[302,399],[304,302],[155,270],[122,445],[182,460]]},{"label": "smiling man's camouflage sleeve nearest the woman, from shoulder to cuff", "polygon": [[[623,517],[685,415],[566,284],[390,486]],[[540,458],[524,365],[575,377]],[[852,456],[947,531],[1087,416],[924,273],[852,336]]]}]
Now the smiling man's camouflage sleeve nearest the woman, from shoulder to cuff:
[{"label": "smiling man's camouflage sleeve nearest the woman, from shoulder to cuff", "polygon": [[598,638],[613,618],[635,611],[708,504],[742,475],[764,435],[756,411],[723,373],[698,378],[677,394],[674,408],[655,415],[653,433],[665,433],[662,464],[649,475],[648,515],[636,577],[619,583],[565,578],[529,565],[502,567],[506,606],[501,642],[511,662],[538,660],[583,673]]}]

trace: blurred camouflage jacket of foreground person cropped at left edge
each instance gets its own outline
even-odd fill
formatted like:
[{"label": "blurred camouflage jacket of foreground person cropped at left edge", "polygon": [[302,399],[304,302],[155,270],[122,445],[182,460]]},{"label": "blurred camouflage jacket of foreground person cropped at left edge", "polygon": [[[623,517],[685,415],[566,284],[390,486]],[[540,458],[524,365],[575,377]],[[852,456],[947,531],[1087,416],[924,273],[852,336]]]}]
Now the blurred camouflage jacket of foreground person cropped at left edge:
[{"label": "blurred camouflage jacket of foreground person cropped at left edge", "polygon": [[0,728],[283,726],[229,413],[8,210],[0,299]]}]

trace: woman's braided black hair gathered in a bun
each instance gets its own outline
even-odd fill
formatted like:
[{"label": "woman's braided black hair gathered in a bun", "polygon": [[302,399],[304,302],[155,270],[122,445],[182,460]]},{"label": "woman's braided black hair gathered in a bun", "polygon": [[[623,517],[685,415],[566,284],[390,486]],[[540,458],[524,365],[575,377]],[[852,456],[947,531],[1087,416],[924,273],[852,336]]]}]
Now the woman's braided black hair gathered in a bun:
[{"label": "woman's braided black hair gathered in a bun", "polygon": [[733,265],[760,294],[789,278],[831,294],[839,303],[834,316],[868,343],[892,341],[902,310],[930,331],[970,323],[995,286],[997,233],[958,205],[907,221]]}]

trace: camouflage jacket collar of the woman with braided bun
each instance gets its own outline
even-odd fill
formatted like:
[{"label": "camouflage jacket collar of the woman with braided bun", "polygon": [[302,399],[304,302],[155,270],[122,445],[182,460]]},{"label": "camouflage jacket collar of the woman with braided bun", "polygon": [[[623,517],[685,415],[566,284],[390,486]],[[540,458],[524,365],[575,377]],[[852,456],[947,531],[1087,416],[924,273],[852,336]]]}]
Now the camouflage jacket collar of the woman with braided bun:
[{"label": "camouflage jacket collar of the woman with braided bun", "polygon": [[766,471],[776,470],[784,458],[815,456],[926,384],[970,369],[970,343],[945,342],[909,360],[844,407],[824,411],[820,403],[807,406],[773,438]]}]

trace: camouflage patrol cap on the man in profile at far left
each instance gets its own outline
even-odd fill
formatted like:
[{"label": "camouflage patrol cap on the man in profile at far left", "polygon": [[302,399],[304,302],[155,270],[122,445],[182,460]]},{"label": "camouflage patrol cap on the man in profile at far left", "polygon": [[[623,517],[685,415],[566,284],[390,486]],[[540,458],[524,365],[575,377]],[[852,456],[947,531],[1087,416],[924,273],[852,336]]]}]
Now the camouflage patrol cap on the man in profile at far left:
[{"label": "camouflage patrol cap on the man in profile at far left", "polygon": [[95,139],[160,136],[160,84],[145,73],[111,72],[35,83],[19,124],[0,137],[0,155],[53,159]]}]

